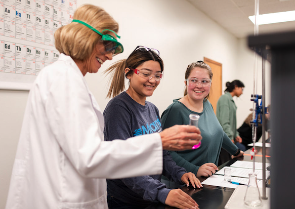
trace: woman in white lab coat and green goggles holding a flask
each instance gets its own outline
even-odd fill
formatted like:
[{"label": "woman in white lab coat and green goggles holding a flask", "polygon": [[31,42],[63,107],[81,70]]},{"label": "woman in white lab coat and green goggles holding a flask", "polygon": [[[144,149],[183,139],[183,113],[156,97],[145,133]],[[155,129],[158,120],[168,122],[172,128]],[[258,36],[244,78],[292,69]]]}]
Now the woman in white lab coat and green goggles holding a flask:
[{"label": "woman in white lab coat and green goggles holding a flask", "polygon": [[61,55],[30,90],[7,209],[107,208],[105,178],[160,174],[163,148],[188,149],[201,139],[196,128],[177,126],[103,141],[103,114],[83,76],[123,51],[117,31],[118,24],[92,5],[78,8],[73,22],[56,31]]}]

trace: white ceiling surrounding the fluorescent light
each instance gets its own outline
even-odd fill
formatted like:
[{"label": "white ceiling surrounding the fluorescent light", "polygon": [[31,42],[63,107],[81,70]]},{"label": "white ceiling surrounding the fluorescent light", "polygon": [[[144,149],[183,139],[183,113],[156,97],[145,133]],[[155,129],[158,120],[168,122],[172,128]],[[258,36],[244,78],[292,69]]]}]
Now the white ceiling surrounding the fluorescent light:
[{"label": "white ceiling surrounding the fluorescent light", "polygon": [[[255,15],[255,0],[187,0],[237,38],[254,34],[248,16]],[[295,0],[260,0],[259,14],[295,10]],[[295,21],[259,26],[259,34],[295,30]]]}]

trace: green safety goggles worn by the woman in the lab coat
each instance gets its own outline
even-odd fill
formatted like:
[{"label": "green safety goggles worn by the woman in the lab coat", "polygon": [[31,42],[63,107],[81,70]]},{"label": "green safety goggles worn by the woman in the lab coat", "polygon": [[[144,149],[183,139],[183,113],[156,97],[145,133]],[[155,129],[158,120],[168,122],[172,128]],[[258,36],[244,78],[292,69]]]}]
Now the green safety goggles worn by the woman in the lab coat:
[{"label": "green safety goggles worn by the woman in the lab coat", "polygon": [[[102,43],[103,43],[104,48],[105,48],[105,54],[113,53],[113,55],[117,55],[117,54],[122,53],[124,51],[123,46],[117,41],[117,39],[114,36],[112,36],[110,34],[102,34],[97,29],[95,29],[91,25],[89,25],[86,22],[83,22],[81,20],[73,20],[72,22],[81,23],[81,24],[85,25],[86,27],[92,29],[94,32],[96,32],[99,35],[101,35],[102,36],[101,40],[102,40]],[[102,32],[104,32],[104,31],[111,31],[118,38],[120,38],[120,36],[118,36],[117,33],[115,33],[112,30],[104,29]]]}]

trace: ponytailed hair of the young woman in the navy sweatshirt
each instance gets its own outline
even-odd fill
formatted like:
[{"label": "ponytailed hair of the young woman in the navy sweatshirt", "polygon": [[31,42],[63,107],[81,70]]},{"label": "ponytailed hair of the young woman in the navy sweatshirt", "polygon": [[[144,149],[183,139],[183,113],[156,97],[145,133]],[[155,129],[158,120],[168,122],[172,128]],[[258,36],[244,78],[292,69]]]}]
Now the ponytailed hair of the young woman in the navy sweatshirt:
[{"label": "ponytailed hair of the young woman in the navy sweatshirt", "polygon": [[[108,69],[105,70],[105,73],[109,74],[113,72],[113,76],[111,78],[110,89],[107,94],[107,97],[115,97],[124,91],[125,82],[124,82],[124,70],[125,68],[137,68],[142,65],[144,62],[153,60],[160,64],[161,72],[164,70],[163,60],[153,51],[140,51],[135,50],[127,59],[119,60],[111,65]],[[134,73],[130,70],[126,73],[127,75]]]}]

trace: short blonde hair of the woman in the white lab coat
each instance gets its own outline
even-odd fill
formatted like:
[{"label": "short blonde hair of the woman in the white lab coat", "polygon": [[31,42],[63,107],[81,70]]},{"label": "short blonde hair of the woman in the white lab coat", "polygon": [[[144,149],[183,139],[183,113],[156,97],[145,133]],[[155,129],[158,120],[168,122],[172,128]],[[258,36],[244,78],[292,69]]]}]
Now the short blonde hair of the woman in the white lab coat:
[{"label": "short blonde hair of the woman in the white lab coat", "polygon": [[[88,23],[98,31],[110,29],[118,32],[118,23],[102,8],[82,5],[74,13],[74,19]],[[85,60],[91,55],[101,36],[77,22],[62,26],[54,33],[55,47],[60,53],[73,59]]]}]

